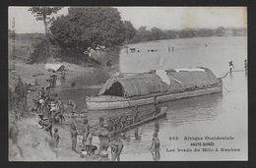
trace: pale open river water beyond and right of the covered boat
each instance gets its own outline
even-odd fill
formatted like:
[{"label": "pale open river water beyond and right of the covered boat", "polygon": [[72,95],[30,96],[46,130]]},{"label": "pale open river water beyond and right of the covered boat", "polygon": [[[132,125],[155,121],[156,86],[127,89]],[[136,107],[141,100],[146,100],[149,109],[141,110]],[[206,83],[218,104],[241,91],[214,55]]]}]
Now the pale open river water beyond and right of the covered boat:
[{"label": "pale open river water beyond and right of the covered boat", "polygon": [[[151,69],[171,69],[187,67],[210,68],[217,77],[228,71],[228,61],[232,60],[232,75],[224,79],[222,93],[185,98],[165,102],[167,117],[155,121],[138,130],[126,133],[122,140],[123,161],[154,160],[150,146],[152,136],[159,127],[160,160],[246,160],[247,159],[247,75],[244,59],[247,58],[247,37],[204,37],[160,40],[129,45],[140,52],[120,53],[120,71],[123,73],[145,72]],[[168,47],[170,51],[168,51]],[[173,47],[173,51],[172,51]],[[148,49],[158,50],[148,52]],[[83,79],[82,79],[83,80]],[[85,96],[95,95],[97,89],[65,89],[60,95],[77,102],[78,108],[85,108]],[[90,112],[92,118],[104,113],[117,111]],[[138,131],[138,136],[134,133]],[[184,140],[198,137],[204,140]],[[232,140],[209,140],[213,137],[232,137]],[[174,138],[174,139],[173,139]],[[177,140],[178,139],[178,140]],[[214,142],[205,146],[219,151],[190,151],[195,146],[191,142]],[[239,151],[220,151],[221,148],[235,148]],[[186,149],[180,151],[180,149]],[[174,151],[173,151],[174,150]]]}]

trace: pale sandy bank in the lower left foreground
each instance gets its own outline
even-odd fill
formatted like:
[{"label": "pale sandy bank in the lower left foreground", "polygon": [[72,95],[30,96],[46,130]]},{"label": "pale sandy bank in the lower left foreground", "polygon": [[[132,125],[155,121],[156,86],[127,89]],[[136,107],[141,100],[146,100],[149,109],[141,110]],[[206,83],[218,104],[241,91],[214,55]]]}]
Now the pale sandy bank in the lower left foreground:
[{"label": "pale sandy bank in the lower left foreground", "polygon": [[56,148],[49,133],[37,127],[37,121],[37,116],[31,115],[16,123],[17,143],[9,139],[9,161],[86,161],[72,151],[68,126],[53,125],[53,128],[58,128],[60,136]]}]

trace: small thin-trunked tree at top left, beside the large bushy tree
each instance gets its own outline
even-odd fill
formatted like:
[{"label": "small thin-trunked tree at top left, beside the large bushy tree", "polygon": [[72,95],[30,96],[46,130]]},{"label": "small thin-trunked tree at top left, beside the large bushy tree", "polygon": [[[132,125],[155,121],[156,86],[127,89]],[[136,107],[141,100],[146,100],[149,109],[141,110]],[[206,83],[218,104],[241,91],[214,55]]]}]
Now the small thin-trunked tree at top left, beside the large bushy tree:
[{"label": "small thin-trunked tree at top left, beside the large bushy tree", "polygon": [[44,31],[47,35],[48,33],[48,24],[53,21],[53,17],[50,18],[52,14],[56,14],[59,10],[61,10],[61,7],[32,7],[29,9],[29,11],[34,14],[36,21],[42,21],[44,25]]}]

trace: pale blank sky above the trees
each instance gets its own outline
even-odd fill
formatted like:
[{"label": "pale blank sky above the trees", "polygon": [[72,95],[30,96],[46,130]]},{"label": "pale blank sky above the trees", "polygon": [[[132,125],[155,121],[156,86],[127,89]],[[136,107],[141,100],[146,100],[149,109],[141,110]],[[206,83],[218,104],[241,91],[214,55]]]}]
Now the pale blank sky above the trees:
[{"label": "pale blank sky above the trees", "polygon": [[[30,7],[9,7],[9,29],[17,33],[44,32],[41,21],[35,21]],[[68,7],[55,16],[67,15]],[[135,28],[247,28],[246,7],[116,7],[123,21]]]}]

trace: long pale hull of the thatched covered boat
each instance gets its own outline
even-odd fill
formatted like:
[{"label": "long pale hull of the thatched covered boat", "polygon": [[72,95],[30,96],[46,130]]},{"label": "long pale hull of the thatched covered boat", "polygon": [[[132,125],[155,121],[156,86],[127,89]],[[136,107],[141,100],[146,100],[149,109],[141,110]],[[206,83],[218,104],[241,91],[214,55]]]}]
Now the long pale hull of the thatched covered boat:
[{"label": "long pale hull of the thatched covered boat", "polygon": [[[137,97],[137,98],[120,98],[117,96],[108,96],[107,100],[102,99],[95,99],[94,97],[90,98],[87,97],[87,109],[88,110],[110,110],[110,109],[120,109],[120,108],[128,108],[133,106],[141,106],[147,104],[165,102],[176,100],[180,98],[188,98],[194,97],[199,95],[206,95],[212,93],[222,92],[223,87],[222,85],[204,88],[204,89],[197,89],[191,91],[184,91],[179,93],[165,93],[165,94],[158,94],[158,95],[151,95],[148,97]],[[100,95],[99,95],[100,96]],[[99,97],[97,96],[97,97]],[[110,97],[110,98],[109,98]]]}]

